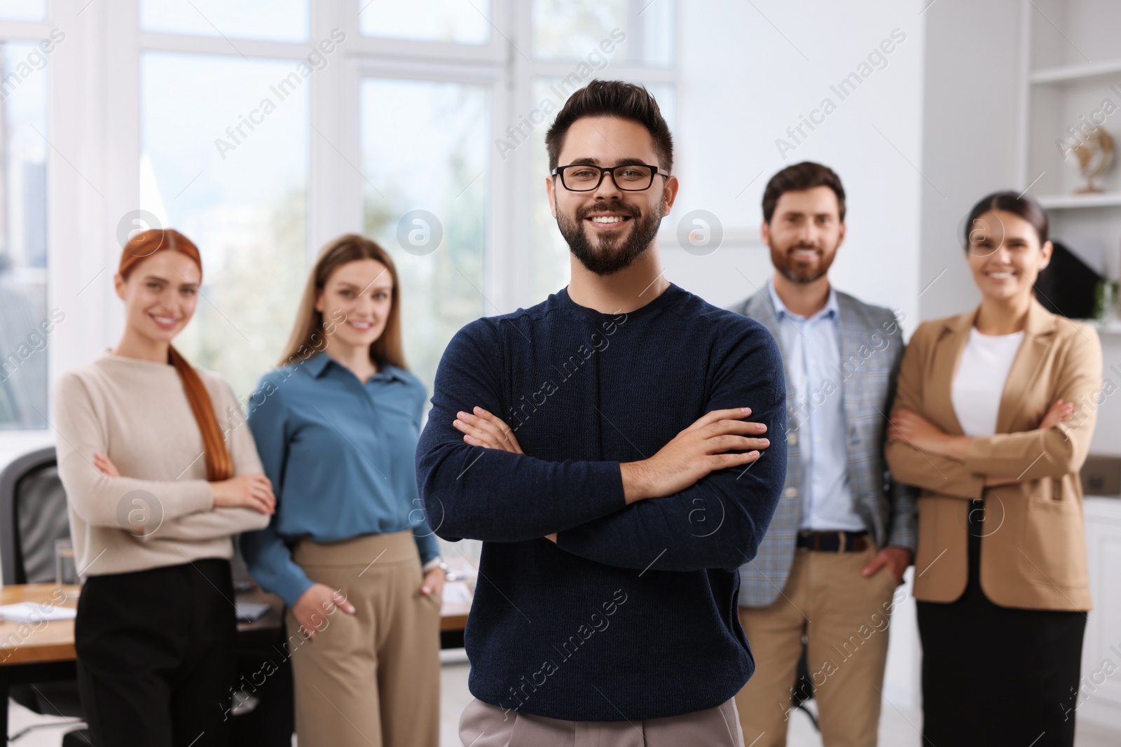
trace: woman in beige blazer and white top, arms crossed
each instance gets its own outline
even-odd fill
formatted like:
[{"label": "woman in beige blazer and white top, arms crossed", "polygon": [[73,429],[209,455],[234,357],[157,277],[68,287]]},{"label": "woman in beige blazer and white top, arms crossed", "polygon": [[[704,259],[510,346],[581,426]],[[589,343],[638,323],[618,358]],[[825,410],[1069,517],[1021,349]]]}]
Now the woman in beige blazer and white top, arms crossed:
[{"label": "woman in beige blazer and white top, arms crossed", "polygon": [[887,445],[891,474],[921,488],[923,734],[1071,746],[1091,606],[1078,469],[1101,344],[1035,298],[1051,254],[1038,203],[989,195],[965,231],[981,305],[915,332]]}]

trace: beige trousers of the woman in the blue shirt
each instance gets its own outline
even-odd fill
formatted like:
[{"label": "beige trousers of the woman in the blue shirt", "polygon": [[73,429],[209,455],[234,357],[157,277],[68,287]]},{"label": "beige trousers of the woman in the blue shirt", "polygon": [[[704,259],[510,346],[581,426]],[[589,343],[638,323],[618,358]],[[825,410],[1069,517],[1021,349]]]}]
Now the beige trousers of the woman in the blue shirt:
[{"label": "beige trousers of the woman in the blue shirt", "polygon": [[442,600],[420,594],[413,533],[305,539],[293,559],[354,605],[331,611],[314,641],[287,614],[299,747],[436,747]]}]

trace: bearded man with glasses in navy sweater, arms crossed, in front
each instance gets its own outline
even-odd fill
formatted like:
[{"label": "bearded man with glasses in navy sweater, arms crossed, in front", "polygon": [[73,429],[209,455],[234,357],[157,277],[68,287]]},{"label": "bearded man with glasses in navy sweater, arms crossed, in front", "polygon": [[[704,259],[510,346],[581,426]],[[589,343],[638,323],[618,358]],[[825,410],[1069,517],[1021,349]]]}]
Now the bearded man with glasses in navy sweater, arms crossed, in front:
[{"label": "bearded man with glasses in navy sweater, arms crossed, in front", "polygon": [[456,334],[417,447],[429,524],[483,541],[460,736],[742,746],[735,571],[786,469],[778,348],[663,277],[678,185],[646,88],[593,81],[546,146],[572,281]]}]

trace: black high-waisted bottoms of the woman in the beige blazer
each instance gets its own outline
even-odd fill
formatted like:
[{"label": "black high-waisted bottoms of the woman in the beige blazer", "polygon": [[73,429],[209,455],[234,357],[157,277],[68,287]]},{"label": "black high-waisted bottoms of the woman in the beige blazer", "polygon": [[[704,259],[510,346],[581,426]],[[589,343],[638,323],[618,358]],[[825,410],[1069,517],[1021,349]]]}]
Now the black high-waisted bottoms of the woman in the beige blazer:
[{"label": "black high-waisted bottoms of the woman in the beige blazer", "polygon": [[989,601],[980,578],[984,504],[970,508],[965,592],[949,604],[918,603],[923,744],[1073,747],[1086,615]]}]

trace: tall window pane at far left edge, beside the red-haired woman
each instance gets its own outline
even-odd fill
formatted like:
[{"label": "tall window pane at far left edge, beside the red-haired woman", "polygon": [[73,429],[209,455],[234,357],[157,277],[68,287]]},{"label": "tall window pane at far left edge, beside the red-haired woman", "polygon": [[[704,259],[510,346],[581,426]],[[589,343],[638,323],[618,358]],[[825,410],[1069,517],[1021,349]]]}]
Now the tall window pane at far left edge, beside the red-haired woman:
[{"label": "tall window pane at far left edge, beside the red-haired woman", "polygon": [[46,347],[65,317],[47,308],[47,59],[0,44],[0,429],[46,428]]}]

